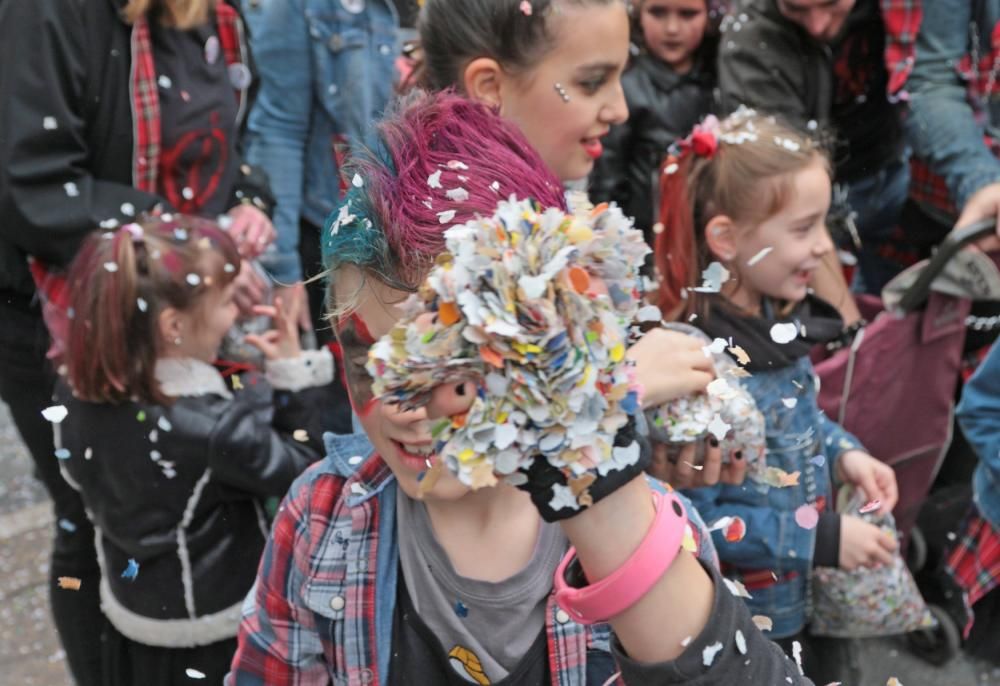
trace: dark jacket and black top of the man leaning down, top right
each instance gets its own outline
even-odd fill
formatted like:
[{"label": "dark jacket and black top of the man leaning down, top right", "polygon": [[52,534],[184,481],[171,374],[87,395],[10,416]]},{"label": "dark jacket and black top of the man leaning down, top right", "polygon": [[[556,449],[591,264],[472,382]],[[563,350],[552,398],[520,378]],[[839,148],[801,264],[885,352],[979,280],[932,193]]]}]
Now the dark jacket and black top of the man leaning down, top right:
[{"label": "dark jacket and black top of the man leaning down, top right", "polygon": [[776,0],[740,0],[722,32],[723,112],[747,105],[792,126],[833,134],[838,181],[873,174],[899,158],[902,125],[888,100],[878,0],[858,0],[831,44],[786,19]]}]

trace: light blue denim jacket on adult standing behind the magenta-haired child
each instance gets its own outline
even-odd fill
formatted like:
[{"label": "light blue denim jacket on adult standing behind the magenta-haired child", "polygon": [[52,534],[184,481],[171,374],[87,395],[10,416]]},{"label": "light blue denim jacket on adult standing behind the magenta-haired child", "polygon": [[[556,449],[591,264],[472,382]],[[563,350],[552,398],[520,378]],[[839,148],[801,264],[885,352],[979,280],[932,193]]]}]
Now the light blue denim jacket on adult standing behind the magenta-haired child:
[{"label": "light blue denim jacket on adult standing behind the magenta-haired child", "polygon": [[282,283],[302,278],[299,219],[322,226],[340,198],[335,146],[356,145],[395,80],[396,9],[388,0],[243,0],[261,88],[247,157],[271,177],[278,238],[263,263]]}]

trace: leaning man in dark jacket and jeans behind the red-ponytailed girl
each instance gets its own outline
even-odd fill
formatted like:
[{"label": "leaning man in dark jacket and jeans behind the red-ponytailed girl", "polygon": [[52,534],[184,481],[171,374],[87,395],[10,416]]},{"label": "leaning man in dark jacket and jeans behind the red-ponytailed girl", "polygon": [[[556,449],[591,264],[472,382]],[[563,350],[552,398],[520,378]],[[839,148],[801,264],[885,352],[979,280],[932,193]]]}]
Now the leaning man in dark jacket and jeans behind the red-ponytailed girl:
[{"label": "leaning man in dark jacket and jeans behind the red-ponytailed girl", "polygon": [[883,257],[909,184],[896,106],[888,100],[878,0],[741,0],[722,26],[722,109],[770,112],[835,135],[835,181],[860,240],[865,289],[901,266]]}]

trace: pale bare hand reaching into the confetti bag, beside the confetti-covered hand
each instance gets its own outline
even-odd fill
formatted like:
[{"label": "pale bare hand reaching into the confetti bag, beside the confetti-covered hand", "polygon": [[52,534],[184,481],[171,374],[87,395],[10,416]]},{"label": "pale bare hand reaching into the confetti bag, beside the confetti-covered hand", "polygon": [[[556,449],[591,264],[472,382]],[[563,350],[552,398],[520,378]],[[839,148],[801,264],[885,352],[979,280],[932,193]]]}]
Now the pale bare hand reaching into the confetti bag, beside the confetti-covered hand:
[{"label": "pale bare hand reaching into the confetti bag, beside the confetti-covered hand", "polygon": [[667,329],[653,329],[629,348],[626,356],[635,362],[643,406],[704,391],[715,378],[715,367],[703,348],[697,338]]}]

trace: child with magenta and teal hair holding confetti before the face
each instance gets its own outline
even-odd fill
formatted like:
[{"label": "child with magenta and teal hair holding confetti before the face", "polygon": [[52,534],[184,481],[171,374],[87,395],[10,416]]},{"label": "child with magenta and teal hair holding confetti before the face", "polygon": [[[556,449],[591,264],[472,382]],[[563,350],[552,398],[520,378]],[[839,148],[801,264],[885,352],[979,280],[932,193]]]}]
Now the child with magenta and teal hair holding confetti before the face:
[{"label": "child with magenta and teal hair holding confetti before the face", "polygon": [[641,474],[641,235],[481,105],[378,133],[324,244],[364,434],[292,487],[228,683],[808,683]]}]

